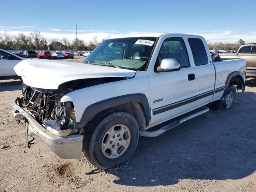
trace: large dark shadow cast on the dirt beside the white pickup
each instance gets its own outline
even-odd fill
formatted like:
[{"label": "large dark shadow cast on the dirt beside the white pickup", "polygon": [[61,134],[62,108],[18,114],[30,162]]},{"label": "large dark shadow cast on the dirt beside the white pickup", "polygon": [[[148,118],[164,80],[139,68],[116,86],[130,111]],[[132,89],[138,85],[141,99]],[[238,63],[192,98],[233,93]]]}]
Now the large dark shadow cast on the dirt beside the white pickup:
[{"label": "large dark shadow cast on the dirt beside the white pickup", "polygon": [[256,127],[244,119],[254,119],[255,103],[255,93],[238,92],[229,110],[210,111],[156,138],[141,137],[128,162],[132,170],[121,165],[112,171],[119,178],[114,183],[166,186],[183,179],[236,180],[252,174]]}]

